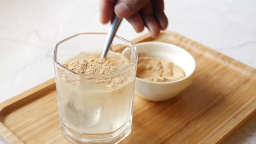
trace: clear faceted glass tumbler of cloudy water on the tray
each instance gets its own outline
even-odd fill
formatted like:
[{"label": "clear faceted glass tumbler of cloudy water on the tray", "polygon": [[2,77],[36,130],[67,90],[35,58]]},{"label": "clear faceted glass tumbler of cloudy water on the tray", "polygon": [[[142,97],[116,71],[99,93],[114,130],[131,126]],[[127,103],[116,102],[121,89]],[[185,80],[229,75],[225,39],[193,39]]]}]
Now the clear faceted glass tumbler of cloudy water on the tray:
[{"label": "clear faceted glass tumbler of cloudy water on the tray", "polygon": [[[137,67],[134,44],[115,36],[110,47],[129,49],[129,64],[114,74],[77,74],[63,63],[79,53],[101,53],[106,33],[80,33],[60,41],[54,51],[62,135],[73,143],[118,143],[131,133]],[[80,57],[82,59],[82,57]],[[94,82],[91,82],[94,80]],[[95,82],[96,81],[96,82]]]}]

